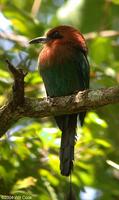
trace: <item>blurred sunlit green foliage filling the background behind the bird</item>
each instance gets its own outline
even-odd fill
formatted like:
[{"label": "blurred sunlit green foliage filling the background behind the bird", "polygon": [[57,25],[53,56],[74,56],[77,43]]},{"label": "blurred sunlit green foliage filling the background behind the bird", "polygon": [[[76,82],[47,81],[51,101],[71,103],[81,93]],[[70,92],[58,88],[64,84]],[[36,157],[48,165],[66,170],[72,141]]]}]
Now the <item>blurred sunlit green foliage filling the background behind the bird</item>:
[{"label": "blurred sunlit green foliage filling the background behind the bird", "polygon": [[[25,41],[60,24],[73,25],[84,34],[97,33],[87,40],[91,88],[119,83],[119,36],[98,35],[103,30],[119,31],[119,0],[1,0],[0,10],[1,106],[12,85],[5,58],[29,72],[25,79],[27,96],[44,96],[37,71],[40,47],[29,47]],[[6,39],[1,33],[7,35]],[[24,36],[24,41],[19,42],[19,36]],[[83,129],[78,128],[72,175],[77,199],[119,199],[118,133],[119,105],[89,112]],[[24,118],[13,124],[0,140],[0,194],[66,199],[69,180],[60,175],[60,136],[52,118]]]}]

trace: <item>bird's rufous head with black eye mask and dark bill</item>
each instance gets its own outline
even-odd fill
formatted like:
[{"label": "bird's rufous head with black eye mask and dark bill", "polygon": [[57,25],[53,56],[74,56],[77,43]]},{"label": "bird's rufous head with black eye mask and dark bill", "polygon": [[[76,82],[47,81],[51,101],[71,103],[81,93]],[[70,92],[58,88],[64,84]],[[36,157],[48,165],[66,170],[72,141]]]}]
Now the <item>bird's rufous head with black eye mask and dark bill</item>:
[{"label": "bird's rufous head with black eye mask and dark bill", "polygon": [[44,37],[32,39],[29,44],[43,43],[47,46],[78,44],[84,52],[87,52],[87,47],[83,35],[71,26],[58,26],[49,30]]}]

